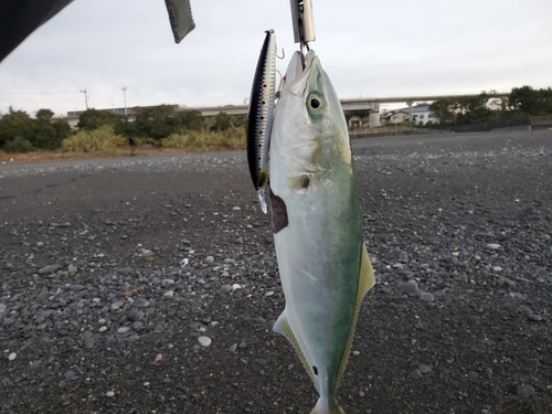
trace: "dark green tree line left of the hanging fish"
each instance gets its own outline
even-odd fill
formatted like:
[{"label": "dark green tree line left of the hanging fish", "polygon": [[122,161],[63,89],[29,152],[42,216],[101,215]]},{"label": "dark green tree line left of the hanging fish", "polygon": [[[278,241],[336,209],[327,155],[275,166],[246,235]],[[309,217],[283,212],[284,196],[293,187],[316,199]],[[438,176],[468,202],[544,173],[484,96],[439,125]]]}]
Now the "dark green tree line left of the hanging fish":
[{"label": "dark green tree line left of the hanging fish", "polygon": [[92,131],[105,126],[130,144],[137,139],[156,144],[173,134],[225,131],[245,125],[245,116],[220,113],[214,117],[203,117],[199,110],[174,110],[171,105],[136,107],[134,110],[136,120],[128,121],[124,115],[110,110],[87,109],[81,114],[77,129],[72,129],[66,120],[52,119],[54,113],[50,109],[40,109],[32,118],[26,112],[10,107],[0,118],[0,149],[7,152],[57,150],[62,141],[76,131]]}]

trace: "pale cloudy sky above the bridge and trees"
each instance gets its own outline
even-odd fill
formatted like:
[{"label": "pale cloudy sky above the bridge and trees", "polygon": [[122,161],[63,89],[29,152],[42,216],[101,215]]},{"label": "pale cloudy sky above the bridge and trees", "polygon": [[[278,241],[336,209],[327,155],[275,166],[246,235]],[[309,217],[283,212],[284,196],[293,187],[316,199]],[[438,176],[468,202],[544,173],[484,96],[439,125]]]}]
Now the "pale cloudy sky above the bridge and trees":
[{"label": "pale cloudy sky above the bridge and trees", "polygon": [[[243,105],[265,30],[286,56],[289,0],[191,0],[176,44],[163,0],[75,0],[0,63],[0,113]],[[312,0],[311,49],[340,98],[552,86],[551,0]],[[384,106],[382,106],[384,107]]]}]

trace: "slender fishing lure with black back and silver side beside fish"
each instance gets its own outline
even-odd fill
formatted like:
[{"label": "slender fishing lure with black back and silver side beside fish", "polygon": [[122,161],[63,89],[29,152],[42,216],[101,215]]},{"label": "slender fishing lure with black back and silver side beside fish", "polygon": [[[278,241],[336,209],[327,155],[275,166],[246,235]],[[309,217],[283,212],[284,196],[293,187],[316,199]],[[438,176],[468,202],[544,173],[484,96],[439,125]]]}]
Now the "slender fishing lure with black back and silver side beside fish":
[{"label": "slender fishing lure with black back and silver side beside fish", "polygon": [[247,113],[247,163],[257,190],[261,210],[266,214],[265,184],[268,181],[268,150],[276,102],[276,34],[267,30],[250,98]]}]

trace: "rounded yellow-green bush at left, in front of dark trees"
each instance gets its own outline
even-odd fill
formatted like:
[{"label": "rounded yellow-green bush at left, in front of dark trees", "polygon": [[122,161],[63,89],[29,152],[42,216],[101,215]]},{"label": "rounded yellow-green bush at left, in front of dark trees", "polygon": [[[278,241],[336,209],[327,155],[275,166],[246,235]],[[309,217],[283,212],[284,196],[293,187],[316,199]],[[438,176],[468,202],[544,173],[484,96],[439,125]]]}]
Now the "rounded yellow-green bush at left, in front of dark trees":
[{"label": "rounded yellow-green bush at left, in front of dark trees", "polygon": [[116,135],[113,127],[103,126],[94,130],[81,130],[62,142],[64,151],[112,151],[127,145],[127,139]]}]

